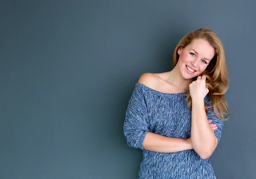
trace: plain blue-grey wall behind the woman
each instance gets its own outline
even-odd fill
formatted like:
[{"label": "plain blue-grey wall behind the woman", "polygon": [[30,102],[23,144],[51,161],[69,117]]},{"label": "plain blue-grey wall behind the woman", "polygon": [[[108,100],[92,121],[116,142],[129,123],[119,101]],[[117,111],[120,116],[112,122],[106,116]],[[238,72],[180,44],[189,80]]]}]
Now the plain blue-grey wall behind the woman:
[{"label": "plain blue-grey wall behind the woman", "polygon": [[145,72],[171,70],[183,35],[212,29],[230,74],[218,179],[256,178],[253,0],[6,0],[0,4],[0,179],[136,179],[123,122]]}]

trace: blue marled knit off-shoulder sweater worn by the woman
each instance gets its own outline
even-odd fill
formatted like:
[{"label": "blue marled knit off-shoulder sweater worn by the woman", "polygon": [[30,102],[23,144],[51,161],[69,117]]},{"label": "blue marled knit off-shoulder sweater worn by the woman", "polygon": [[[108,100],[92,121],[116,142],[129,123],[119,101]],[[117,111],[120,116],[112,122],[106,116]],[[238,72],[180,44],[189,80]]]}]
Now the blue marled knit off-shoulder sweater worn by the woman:
[{"label": "blue marled knit off-shoulder sweater worn by the woman", "polygon": [[[144,84],[135,84],[123,129],[128,145],[143,150],[140,179],[215,179],[209,160],[201,159],[195,150],[160,153],[143,149],[147,132],[172,138],[190,137],[191,110],[186,107],[184,93],[163,93]],[[204,102],[206,106],[212,104],[208,95]],[[215,116],[213,108],[209,108],[207,118],[217,124],[214,133],[219,142],[223,121]]]}]

